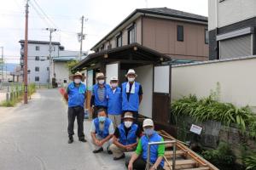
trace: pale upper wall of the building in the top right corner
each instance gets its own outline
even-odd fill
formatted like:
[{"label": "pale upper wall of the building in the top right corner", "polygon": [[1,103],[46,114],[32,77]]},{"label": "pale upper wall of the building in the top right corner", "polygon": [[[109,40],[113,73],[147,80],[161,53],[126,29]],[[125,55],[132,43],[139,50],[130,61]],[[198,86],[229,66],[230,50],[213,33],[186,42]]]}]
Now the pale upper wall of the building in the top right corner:
[{"label": "pale upper wall of the building in the top right corner", "polygon": [[[209,31],[256,16],[255,0],[208,0]],[[218,13],[218,16],[216,15]],[[218,21],[216,20],[218,19]]]}]

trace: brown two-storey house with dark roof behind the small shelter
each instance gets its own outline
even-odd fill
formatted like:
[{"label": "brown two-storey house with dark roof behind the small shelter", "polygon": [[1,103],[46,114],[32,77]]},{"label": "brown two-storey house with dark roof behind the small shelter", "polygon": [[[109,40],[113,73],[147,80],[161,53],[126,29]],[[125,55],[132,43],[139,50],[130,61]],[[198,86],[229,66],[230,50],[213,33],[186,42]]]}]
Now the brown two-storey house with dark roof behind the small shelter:
[{"label": "brown two-storey house with dark roof behind the small shelter", "polygon": [[138,8],[91,50],[97,53],[137,42],[174,62],[208,60],[207,21],[205,16],[172,8]]}]

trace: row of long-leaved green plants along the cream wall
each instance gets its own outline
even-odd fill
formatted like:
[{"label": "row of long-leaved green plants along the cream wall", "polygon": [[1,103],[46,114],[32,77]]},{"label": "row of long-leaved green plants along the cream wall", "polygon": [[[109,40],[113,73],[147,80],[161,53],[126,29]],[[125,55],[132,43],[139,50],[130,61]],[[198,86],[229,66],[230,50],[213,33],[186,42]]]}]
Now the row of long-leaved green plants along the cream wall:
[{"label": "row of long-leaved green plants along the cream wall", "polygon": [[177,123],[181,116],[190,116],[196,122],[217,121],[256,137],[256,116],[248,106],[238,108],[230,103],[221,103],[213,99],[212,95],[202,99],[197,99],[195,95],[177,99],[172,102],[171,114],[174,123]]}]

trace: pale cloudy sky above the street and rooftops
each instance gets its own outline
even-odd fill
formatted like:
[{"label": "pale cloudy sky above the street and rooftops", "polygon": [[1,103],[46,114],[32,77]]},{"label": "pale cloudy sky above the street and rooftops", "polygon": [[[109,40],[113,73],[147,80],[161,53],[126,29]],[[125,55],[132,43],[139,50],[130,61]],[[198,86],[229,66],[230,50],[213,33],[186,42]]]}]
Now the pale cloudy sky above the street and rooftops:
[{"label": "pale cloudy sky above the street and rooftops", "polygon": [[[25,37],[26,0],[1,0],[0,47],[4,61],[18,63],[20,39]],[[83,50],[89,50],[136,8],[167,7],[208,15],[208,0],[29,0],[28,39],[49,41],[46,28],[56,28],[53,41],[79,51],[77,33],[84,15]]]}]

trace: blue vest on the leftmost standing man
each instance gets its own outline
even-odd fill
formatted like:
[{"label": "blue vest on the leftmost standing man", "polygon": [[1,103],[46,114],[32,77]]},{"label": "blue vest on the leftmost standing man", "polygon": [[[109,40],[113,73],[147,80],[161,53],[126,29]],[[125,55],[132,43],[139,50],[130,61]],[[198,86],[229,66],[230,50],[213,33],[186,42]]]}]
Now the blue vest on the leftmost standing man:
[{"label": "blue vest on the leftmost standing man", "polygon": [[86,93],[86,87],[83,83],[80,83],[79,87],[75,87],[74,82],[71,82],[67,86],[68,88],[68,107],[81,106],[84,107],[84,94]]}]

